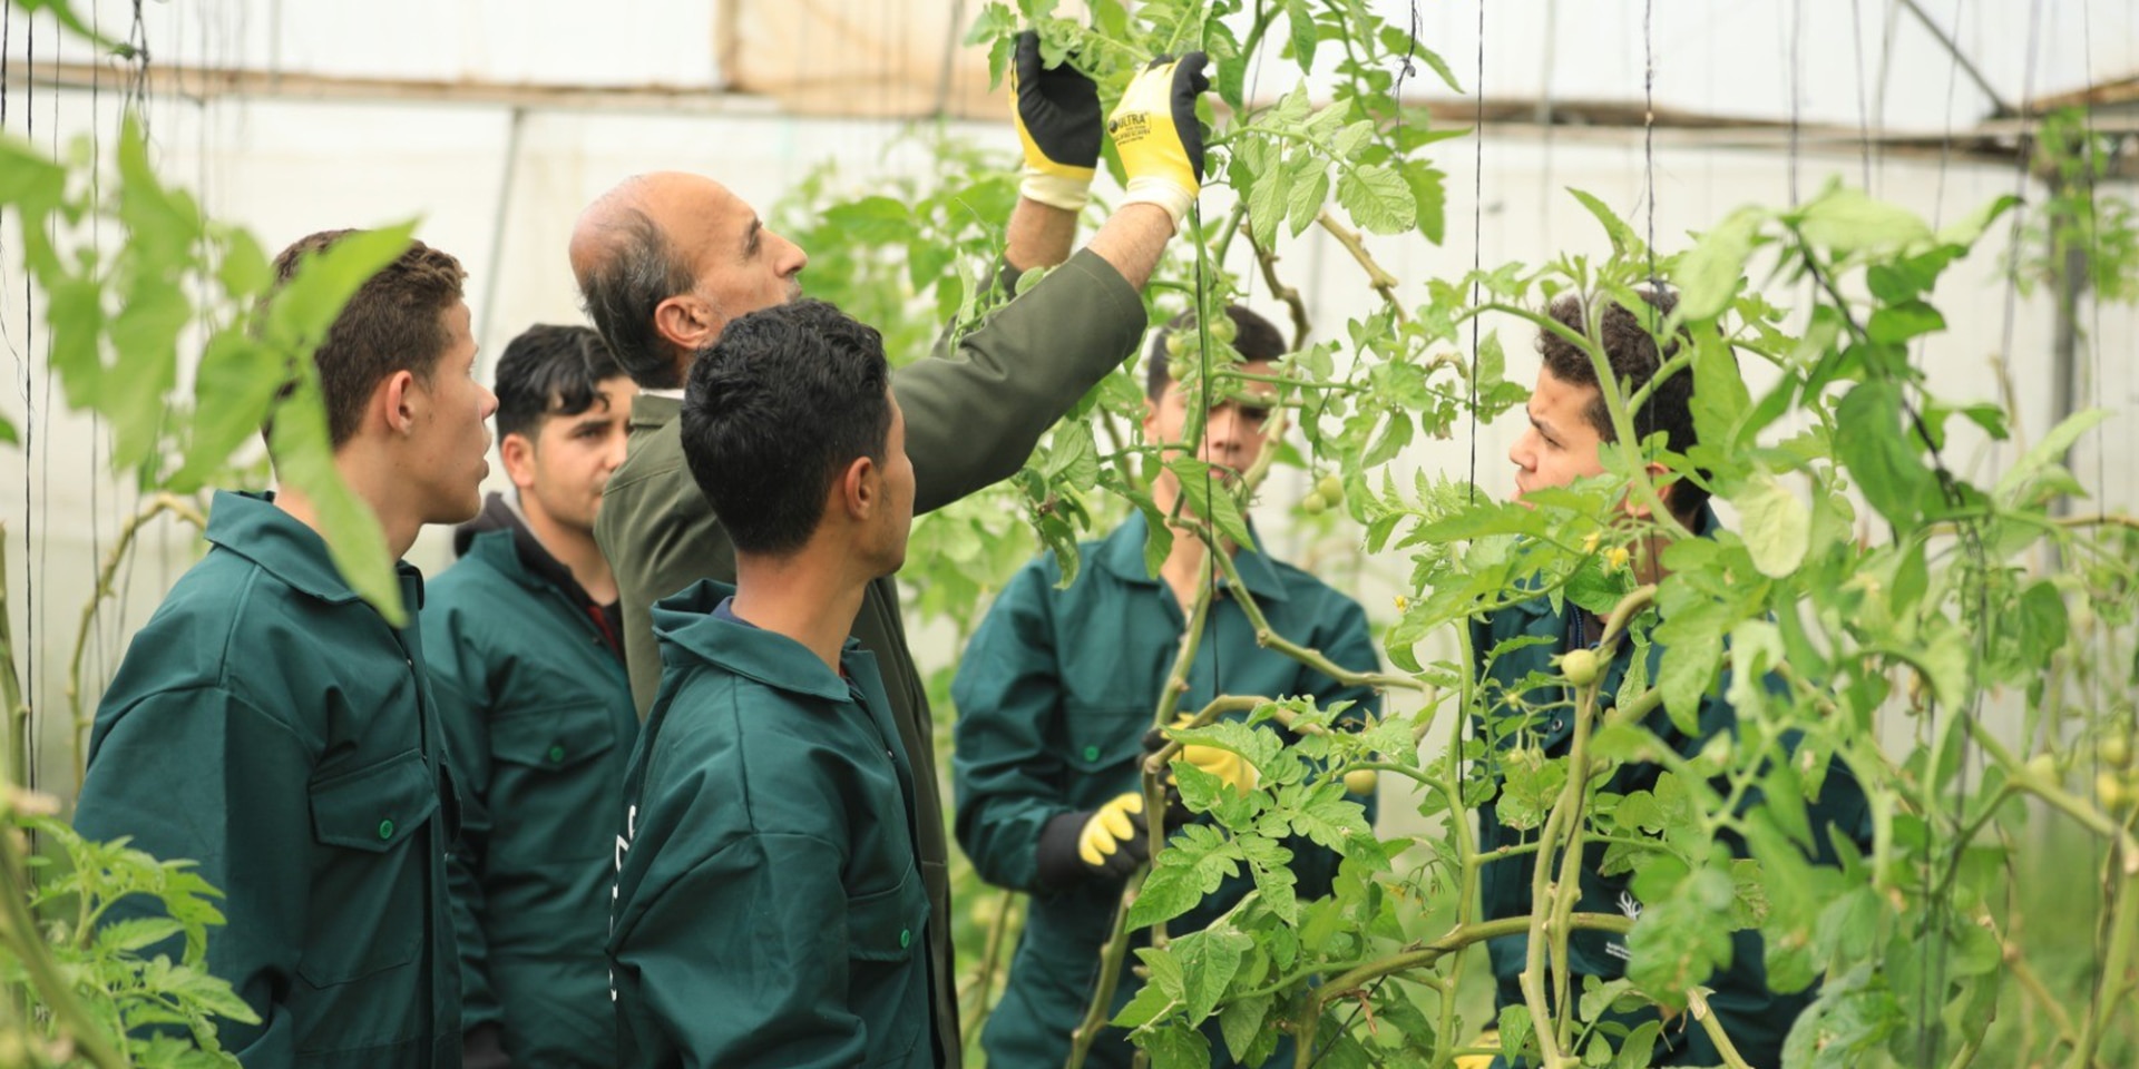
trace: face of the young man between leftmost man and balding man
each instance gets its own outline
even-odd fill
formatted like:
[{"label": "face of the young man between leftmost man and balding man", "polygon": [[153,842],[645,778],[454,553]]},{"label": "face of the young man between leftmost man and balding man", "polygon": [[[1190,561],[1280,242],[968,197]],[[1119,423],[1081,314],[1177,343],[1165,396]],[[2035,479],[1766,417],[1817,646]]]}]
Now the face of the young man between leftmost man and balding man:
[{"label": "face of the young man between leftmost man and balding man", "polygon": [[584,413],[543,417],[533,440],[507,434],[501,453],[505,472],[520,487],[520,507],[593,534],[601,490],[625,462],[631,398],[637,393],[640,387],[618,374],[595,387],[595,402]]}]

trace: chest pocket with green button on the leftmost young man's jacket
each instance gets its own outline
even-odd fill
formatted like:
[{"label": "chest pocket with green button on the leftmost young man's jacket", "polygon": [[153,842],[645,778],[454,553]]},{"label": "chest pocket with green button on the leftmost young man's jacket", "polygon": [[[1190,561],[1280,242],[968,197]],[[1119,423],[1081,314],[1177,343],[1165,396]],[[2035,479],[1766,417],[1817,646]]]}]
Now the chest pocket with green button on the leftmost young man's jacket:
[{"label": "chest pocket with green button on the leftmost young man's jacket", "polygon": [[413,962],[424,947],[434,859],[411,840],[438,810],[438,780],[424,755],[406,750],[312,780],[310,806],[312,838],[329,849],[319,851],[312,874],[297,973],[329,988]]}]

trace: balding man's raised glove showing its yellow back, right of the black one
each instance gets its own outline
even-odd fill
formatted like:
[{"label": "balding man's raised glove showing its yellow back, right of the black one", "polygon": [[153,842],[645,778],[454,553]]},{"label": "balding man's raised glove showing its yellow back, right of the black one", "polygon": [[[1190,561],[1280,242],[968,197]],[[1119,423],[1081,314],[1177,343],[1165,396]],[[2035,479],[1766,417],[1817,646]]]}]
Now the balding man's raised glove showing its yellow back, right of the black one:
[{"label": "balding man's raised glove showing its yellow back, right of the black one", "polygon": [[1202,190],[1202,126],[1196,98],[1211,88],[1202,68],[1209,58],[1191,51],[1179,60],[1159,56],[1140,71],[1106,120],[1106,133],[1129,175],[1121,203],[1151,203],[1172,216],[1189,214]]}]

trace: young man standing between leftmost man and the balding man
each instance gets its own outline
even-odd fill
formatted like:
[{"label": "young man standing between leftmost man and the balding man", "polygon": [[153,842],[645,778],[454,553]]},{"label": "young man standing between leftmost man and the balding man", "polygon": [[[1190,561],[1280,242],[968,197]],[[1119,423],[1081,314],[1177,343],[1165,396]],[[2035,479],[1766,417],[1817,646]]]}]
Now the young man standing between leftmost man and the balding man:
[{"label": "young man standing between leftmost man and the balding man", "polygon": [[640,733],[595,545],[637,387],[588,327],[528,327],[496,372],[513,494],[453,532],[424,650],[464,800],[453,853],[468,1069],[610,1067],[610,810]]}]

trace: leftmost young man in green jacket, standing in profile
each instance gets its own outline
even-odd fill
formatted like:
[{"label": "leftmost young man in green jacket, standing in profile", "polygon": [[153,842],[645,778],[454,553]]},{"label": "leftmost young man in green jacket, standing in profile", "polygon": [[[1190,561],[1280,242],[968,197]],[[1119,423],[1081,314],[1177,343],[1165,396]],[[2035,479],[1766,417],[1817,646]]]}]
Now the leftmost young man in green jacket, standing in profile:
[{"label": "leftmost young man in green jacket, standing in profile", "polygon": [[[347,233],[289,246],[276,276]],[[453,257],[411,244],[314,355],[334,466],[396,558],[481,505],[496,398],[473,374],[460,284]],[[419,624],[359,601],[319,530],[293,490],[216,496],[207,556],[96,708],[75,827],[190,857],[222,889],[207,971],[261,1018],[220,1022],[246,1069],[456,1067],[458,821]],[[421,575],[400,564],[400,586],[415,614]],[[126,898],[105,919],[148,909]]]}]

